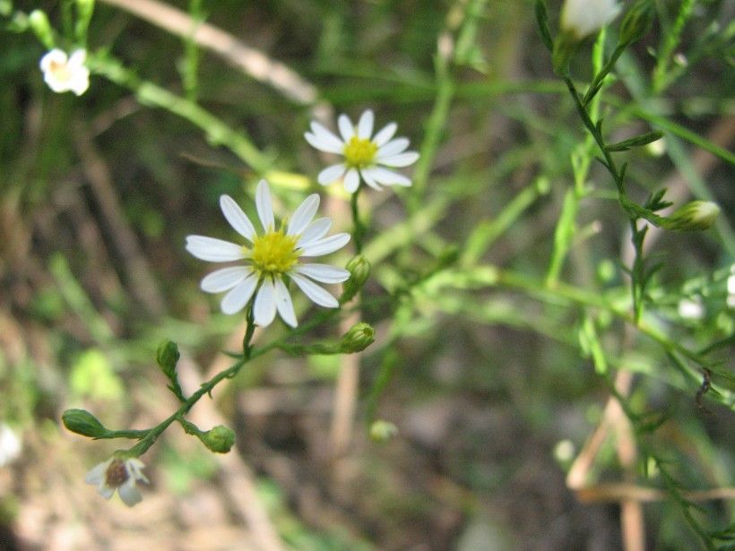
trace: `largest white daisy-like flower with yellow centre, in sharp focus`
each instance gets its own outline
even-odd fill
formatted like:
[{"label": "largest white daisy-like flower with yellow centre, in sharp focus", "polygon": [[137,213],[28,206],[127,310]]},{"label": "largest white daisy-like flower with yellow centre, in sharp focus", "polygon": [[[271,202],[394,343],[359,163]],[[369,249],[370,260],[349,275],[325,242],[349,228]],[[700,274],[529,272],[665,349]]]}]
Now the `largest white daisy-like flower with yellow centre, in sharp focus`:
[{"label": "largest white daisy-like flower with yellow centre, in sharp focus", "polygon": [[237,202],[229,195],[220,196],[222,214],[229,225],[246,238],[246,245],[213,237],[186,237],[186,250],[200,260],[212,263],[245,261],[244,265],[212,271],[202,280],[203,291],[229,291],[220,303],[225,314],[237,314],[255,295],[253,314],[255,323],[261,327],[270,325],[276,312],[291,327],[298,325],[284,276],[317,305],[339,306],[336,298],[312,280],[342,283],[350,277],[350,272],[328,264],[299,262],[301,257],[333,253],[350,241],[350,234],[346,233],[324,237],[332,227],[332,220],[313,220],[319,207],[319,195],[309,195],[298,205],[288,223],[281,222],[279,229],[276,229],[271,192],[265,180],[261,180],[255,190],[255,207],[263,226],[261,234],[255,231]]}]

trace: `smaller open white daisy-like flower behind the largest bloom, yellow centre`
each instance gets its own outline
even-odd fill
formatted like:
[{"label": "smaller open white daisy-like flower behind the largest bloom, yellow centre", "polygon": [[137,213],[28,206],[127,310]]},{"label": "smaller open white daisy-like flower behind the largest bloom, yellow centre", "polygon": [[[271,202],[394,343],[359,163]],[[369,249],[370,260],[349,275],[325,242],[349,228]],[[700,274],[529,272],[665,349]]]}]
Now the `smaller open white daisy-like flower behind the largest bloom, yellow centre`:
[{"label": "smaller open white daisy-like flower behind the largest bloom, yellow centre", "polygon": [[342,138],[334,135],[317,122],[311,123],[311,132],[304,137],[319,151],[337,153],[344,161],[324,168],[316,176],[321,185],[330,185],[344,177],[344,189],[350,194],[358,190],[360,177],[375,189],[380,185],[410,186],[411,180],[402,174],[385,167],[408,167],[419,159],[416,151],[406,151],[407,138],[393,138],[398,125],[389,123],[372,136],[375,116],[368,109],[360,117],[357,126],[352,125],[350,117],[340,115],[337,125]]}]

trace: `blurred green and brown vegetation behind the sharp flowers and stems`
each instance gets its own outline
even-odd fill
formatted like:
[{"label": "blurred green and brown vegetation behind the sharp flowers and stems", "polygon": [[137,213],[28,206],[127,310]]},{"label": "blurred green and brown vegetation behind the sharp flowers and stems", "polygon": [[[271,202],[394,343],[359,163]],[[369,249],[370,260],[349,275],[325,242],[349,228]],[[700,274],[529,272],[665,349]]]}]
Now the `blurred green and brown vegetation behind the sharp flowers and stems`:
[{"label": "blurred green and brown vegetation behind the sharp flowers and stems", "polygon": [[[190,18],[183,37],[167,6]],[[620,154],[636,200],[667,187],[678,204],[722,208],[706,232],[652,230],[647,249],[662,264],[647,323],[705,351],[716,392],[701,392],[690,358],[615,314],[632,249],[593,161],[568,256],[545,284],[571,159],[597,153],[531,1],[99,1],[98,65],[79,98],[48,90],[46,48],[18,18],[39,8],[61,31],[62,5],[3,2],[0,419],[22,453],[0,466],[0,547],[732,548],[735,8],[656,6],[601,109],[610,142],[665,134]],[[559,7],[549,2],[554,28]],[[225,33],[219,52],[192,21]],[[581,82],[591,52],[574,57]],[[347,360],[272,352],[195,408],[203,426],[236,428],[237,452],[214,457],[172,429],[143,457],[143,503],[105,502],[83,476],[116,443],[70,435],[61,411],[120,428],[167,417],[176,402],[154,362],[165,338],[184,351],[189,389],[227,367],[221,351],[238,349],[244,319],[199,290],[184,238],[228,238],[219,195],[249,208],[260,176],[281,212],[324,192],[303,133],[365,108],[378,127],[396,121],[422,159],[415,189],[364,197],[363,315],[378,338],[359,357],[346,449],[334,453],[330,426]],[[350,231],[330,193],[335,228]],[[398,435],[371,441],[376,419]]]}]

